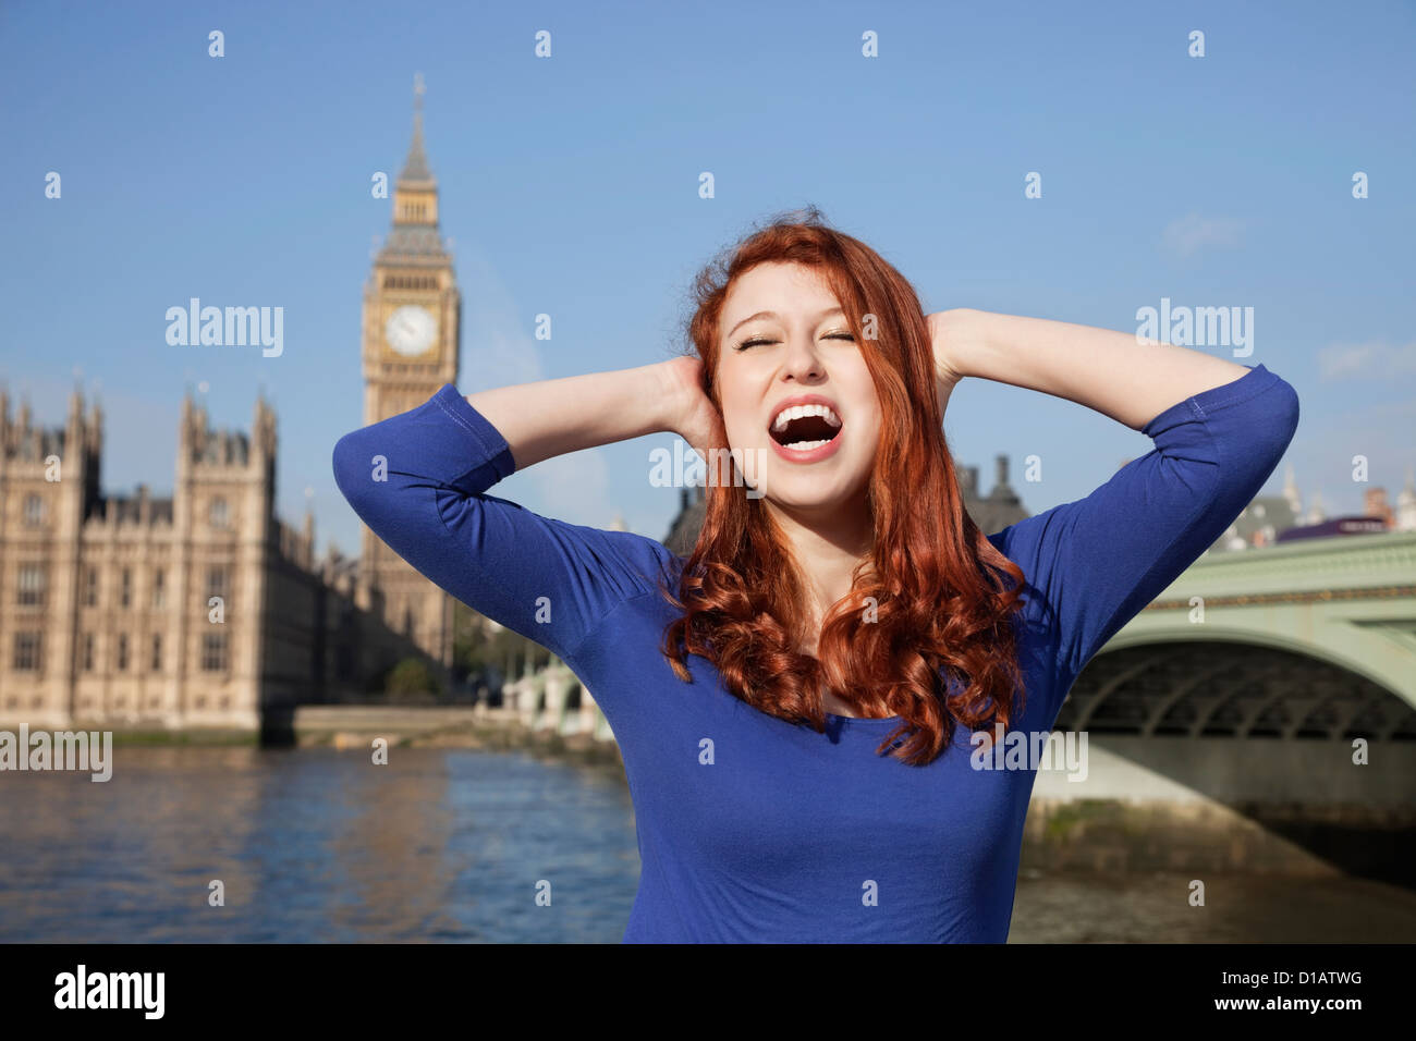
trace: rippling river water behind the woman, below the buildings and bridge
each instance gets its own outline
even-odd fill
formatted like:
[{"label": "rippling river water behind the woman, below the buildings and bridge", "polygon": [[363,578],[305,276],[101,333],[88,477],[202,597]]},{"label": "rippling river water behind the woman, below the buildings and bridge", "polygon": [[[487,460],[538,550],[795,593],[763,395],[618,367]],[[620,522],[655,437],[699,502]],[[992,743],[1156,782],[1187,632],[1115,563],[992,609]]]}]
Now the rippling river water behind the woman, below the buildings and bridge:
[{"label": "rippling river water behind the woman, below the buildings and bridge", "polygon": [[[619,942],[639,853],[613,772],[470,749],[389,759],[123,745],[108,783],[0,775],[0,942]],[[1206,877],[1192,908],[1188,881],[1025,872],[1010,939],[1416,939],[1416,894],[1395,887]]]}]

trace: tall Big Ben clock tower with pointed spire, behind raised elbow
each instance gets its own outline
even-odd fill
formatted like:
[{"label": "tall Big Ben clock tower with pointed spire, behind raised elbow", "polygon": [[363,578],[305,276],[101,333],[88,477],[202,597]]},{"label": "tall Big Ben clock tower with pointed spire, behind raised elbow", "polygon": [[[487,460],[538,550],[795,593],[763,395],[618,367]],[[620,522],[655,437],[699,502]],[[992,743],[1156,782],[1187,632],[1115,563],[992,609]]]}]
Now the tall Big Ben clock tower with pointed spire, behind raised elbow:
[{"label": "tall Big Ben clock tower with pointed spire, behind raised elbow", "polygon": [[[364,285],[364,423],[422,405],[457,382],[462,297],[438,234],[438,181],[423,153],[423,82],[413,86],[413,140],[394,187],[394,227]],[[362,581],[385,622],[430,657],[452,664],[452,598],[367,527]],[[372,599],[372,598],[370,598]]]}]

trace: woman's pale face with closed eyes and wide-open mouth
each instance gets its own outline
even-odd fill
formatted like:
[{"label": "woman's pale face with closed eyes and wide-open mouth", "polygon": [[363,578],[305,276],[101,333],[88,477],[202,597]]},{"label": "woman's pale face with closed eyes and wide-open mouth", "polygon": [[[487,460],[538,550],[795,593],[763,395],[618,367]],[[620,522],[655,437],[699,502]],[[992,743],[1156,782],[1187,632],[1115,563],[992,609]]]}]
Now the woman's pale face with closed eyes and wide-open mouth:
[{"label": "woman's pale face with closed eyes and wide-open mouth", "polygon": [[[816,269],[752,268],[728,292],[719,330],[724,428],[748,484],[806,513],[858,500],[875,466],[879,399],[845,313]],[[780,422],[797,398],[811,401]]]}]

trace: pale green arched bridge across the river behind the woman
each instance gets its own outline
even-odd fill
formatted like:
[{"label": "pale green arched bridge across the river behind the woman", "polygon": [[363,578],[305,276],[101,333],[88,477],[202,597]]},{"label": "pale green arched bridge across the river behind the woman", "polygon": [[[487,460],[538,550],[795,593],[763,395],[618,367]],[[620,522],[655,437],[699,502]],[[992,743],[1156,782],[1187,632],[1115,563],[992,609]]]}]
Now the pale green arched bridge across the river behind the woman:
[{"label": "pale green arched bridge across the river behind the woman", "polygon": [[[559,661],[504,695],[527,727],[613,741]],[[1086,776],[1039,770],[1035,803],[1222,807],[1416,887],[1416,533],[1206,554],[1092,659],[1056,729],[1087,735]]]}]

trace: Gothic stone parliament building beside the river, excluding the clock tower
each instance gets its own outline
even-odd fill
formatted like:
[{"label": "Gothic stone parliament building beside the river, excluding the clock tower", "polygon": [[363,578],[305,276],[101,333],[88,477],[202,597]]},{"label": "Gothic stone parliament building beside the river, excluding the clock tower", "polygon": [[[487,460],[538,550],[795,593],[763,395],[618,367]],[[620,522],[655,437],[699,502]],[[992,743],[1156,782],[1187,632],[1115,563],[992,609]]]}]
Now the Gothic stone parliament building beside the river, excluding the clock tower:
[{"label": "Gothic stone parliament building beside the river, excluding the clock tower", "polygon": [[173,496],[103,496],[102,409],[76,388],[42,428],[0,392],[0,727],[255,731],[418,654],[275,516],[276,448],[263,399],[248,435],[188,392]]}]

